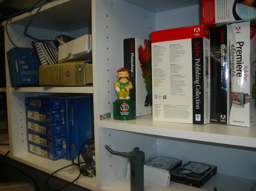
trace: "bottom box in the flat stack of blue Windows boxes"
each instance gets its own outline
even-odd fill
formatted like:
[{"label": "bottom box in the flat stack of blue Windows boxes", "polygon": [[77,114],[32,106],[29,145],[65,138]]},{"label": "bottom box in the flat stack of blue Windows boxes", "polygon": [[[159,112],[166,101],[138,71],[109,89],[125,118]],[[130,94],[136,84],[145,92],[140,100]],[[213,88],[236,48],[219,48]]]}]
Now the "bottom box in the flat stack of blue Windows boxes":
[{"label": "bottom box in the flat stack of blue Windows boxes", "polygon": [[28,142],[28,152],[37,154],[39,156],[42,156],[54,161],[58,159],[62,159],[61,147],[52,149],[49,147],[45,147],[43,145]]}]

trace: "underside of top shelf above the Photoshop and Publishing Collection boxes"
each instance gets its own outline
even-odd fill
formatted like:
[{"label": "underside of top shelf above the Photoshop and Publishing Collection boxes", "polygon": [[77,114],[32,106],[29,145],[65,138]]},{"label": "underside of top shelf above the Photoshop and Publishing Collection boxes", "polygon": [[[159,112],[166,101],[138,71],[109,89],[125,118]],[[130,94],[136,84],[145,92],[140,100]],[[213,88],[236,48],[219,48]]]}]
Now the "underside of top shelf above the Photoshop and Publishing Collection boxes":
[{"label": "underside of top shelf above the Photoshop and Publishing Collection boxes", "polygon": [[143,9],[152,11],[152,12],[162,12],[172,9],[178,9],[183,7],[189,7],[197,5],[200,3],[200,0],[122,0],[135,6],[141,7]]}]

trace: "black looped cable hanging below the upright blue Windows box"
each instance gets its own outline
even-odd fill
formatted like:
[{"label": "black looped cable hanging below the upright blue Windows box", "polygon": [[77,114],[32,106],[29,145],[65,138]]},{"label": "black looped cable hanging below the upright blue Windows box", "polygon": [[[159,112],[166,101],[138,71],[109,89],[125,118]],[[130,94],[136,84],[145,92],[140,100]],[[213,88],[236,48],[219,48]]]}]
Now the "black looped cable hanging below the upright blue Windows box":
[{"label": "black looped cable hanging below the upright blue Windows box", "polygon": [[[85,163],[85,162],[80,163],[79,157],[80,157],[80,154],[82,153],[83,147],[86,145],[86,143],[88,143],[88,142],[91,141],[91,140],[92,140],[92,139],[89,139],[89,140],[87,140],[85,143],[83,143],[83,145],[82,145],[82,147],[81,147],[81,149],[80,149],[80,151],[79,151],[79,153],[78,153],[78,163],[75,163],[75,162],[74,162],[74,160],[76,159],[76,158],[74,158],[74,159],[72,160],[73,164],[70,164],[70,165],[68,165],[68,166],[65,166],[65,167],[63,167],[63,168],[61,168],[61,169],[58,169],[58,170],[54,171],[52,174],[50,174],[50,175],[46,178],[45,182],[46,182],[46,185],[47,185],[48,189],[50,189],[51,191],[59,191],[59,190],[61,190],[61,189],[63,189],[63,188],[68,187],[70,184],[73,184],[75,181],[77,181],[77,180],[80,178],[81,174],[85,175],[85,173],[83,172],[84,169],[82,170],[82,168],[81,168],[81,166],[80,166],[80,164],[83,164],[83,163]],[[49,185],[49,180],[50,180],[50,178],[53,176],[53,174],[55,174],[55,173],[57,173],[57,172],[59,172],[59,171],[65,169],[65,168],[74,166],[74,165],[76,165],[76,166],[79,167],[79,175],[78,175],[78,177],[77,177],[76,179],[74,179],[72,182],[69,182],[68,184],[65,184],[64,186],[59,187],[59,188],[56,188],[56,189],[53,189],[53,188],[50,187],[50,185]],[[84,171],[86,171],[86,170],[84,170]],[[88,173],[89,173],[89,172],[88,172]]]}]

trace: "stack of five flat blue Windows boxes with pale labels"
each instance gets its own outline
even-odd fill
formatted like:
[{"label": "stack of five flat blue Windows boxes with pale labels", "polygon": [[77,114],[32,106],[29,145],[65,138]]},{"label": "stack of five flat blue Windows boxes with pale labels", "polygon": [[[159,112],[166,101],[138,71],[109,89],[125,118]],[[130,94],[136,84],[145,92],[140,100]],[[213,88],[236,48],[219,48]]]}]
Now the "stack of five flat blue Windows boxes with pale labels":
[{"label": "stack of five flat blue Windows boxes with pale labels", "polygon": [[61,100],[52,97],[25,98],[28,152],[51,160],[62,159],[66,136],[65,111]]}]

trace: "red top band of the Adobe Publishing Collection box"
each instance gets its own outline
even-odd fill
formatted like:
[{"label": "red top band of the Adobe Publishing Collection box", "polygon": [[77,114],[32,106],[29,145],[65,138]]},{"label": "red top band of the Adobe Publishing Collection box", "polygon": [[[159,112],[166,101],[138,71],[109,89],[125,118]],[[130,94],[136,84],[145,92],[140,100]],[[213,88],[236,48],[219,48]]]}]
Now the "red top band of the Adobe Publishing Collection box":
[{"label": "red top band of the Adobe Publishing Collection box", "polygon": [[151,33],[151,42],[164,42],[180,39],[210,38],[209,27],[203,25],[161,30]]}]

